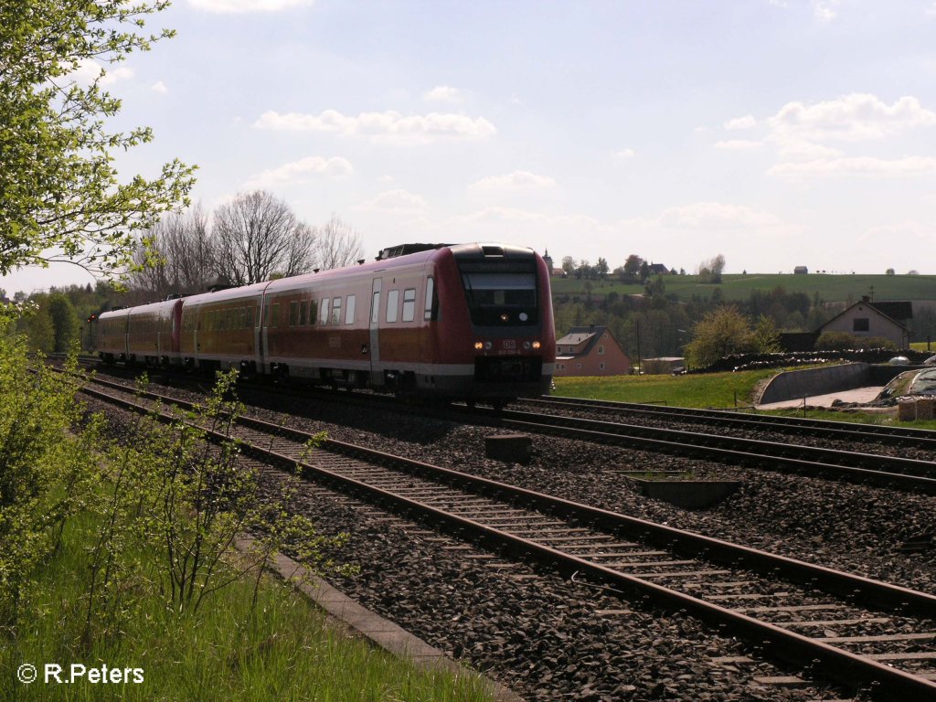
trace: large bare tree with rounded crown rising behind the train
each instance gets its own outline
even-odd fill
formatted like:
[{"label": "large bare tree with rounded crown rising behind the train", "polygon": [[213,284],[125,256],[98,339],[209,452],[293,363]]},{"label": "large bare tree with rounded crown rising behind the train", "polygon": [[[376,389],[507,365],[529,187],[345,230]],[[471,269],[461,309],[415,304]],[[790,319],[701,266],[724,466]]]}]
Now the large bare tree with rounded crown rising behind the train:
[{"label": "large bare tree with rounded crown rising behind the train", "polygon": [[315,230],[285,201],[257,190],[238,195],[214,214],[212,246],[217,272],[232,285],[251,285],[310,271]]}]

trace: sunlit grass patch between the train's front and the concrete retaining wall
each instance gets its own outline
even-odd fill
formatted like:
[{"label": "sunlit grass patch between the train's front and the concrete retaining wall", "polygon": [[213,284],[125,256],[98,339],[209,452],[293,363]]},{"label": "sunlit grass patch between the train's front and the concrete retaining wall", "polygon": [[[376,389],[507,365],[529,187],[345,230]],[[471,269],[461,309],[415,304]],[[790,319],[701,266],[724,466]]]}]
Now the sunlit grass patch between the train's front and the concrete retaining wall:
[{"label": "sunlit grass patch between the train's front and the concrete retaining wall", "polygon": [[661,402],[679,407],[735,407],[750,405],[757,383],[777,370],[698,375],[616,375],[612,377],[554,378],[554,395],[616,400]]}]

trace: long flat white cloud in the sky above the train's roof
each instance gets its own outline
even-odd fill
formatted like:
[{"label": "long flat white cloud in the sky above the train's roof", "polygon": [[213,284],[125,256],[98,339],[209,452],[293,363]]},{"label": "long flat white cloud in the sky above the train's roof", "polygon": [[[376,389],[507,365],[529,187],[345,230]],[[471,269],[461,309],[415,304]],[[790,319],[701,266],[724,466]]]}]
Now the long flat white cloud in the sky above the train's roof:
[{"label": "long flat white cloud in the sky above the train's roof", "polygon": [[363,137],[395,143],[430,143],[439,139],[487,139],[497,133],[483,117],[468,117],[452,112],[402,115],[400,112],[362,112],[344,115],[338,110],[321,114],[268,110],[254,126],[276,131],[332,132],[345,137]]}]

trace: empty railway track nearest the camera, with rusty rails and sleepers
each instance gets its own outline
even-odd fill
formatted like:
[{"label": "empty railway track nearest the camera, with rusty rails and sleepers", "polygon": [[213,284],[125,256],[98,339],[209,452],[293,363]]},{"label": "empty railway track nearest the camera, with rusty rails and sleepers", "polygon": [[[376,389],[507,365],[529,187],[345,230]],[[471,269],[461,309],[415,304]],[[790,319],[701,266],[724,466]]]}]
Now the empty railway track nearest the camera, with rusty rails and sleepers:
[{"label": "empty railway track nearest the camera, with rusty rails and sleepers", "polygon": [[[125,387],[87,391],[148,409]],[[154,393],[142,397],[187,405]],[[461,539],[548,563],[623,597],[685,610],[806,679],[853,691],[876,685],[890,699],[936,699],[936,596],[929,593],[362,446],[329,441],[303,459],[307,432],[252,417],[238,426],[237,438],[256,458],[301,461],[310,478]]]}]

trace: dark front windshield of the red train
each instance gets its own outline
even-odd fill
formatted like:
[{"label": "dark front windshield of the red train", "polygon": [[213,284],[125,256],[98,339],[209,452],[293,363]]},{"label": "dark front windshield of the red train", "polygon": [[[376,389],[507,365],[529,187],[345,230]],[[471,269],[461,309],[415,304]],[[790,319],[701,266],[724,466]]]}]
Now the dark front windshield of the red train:
[{"label": "dark front windshield of the red train", "polygon": [[461,282],[475,325],[516,327],[539,321],[534,272],[462,271]]}]

